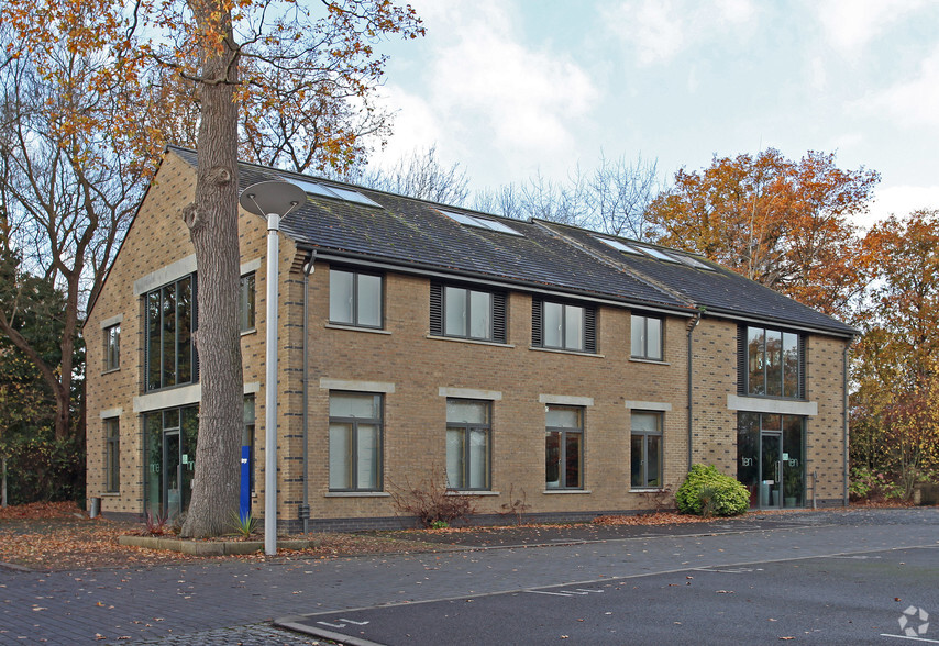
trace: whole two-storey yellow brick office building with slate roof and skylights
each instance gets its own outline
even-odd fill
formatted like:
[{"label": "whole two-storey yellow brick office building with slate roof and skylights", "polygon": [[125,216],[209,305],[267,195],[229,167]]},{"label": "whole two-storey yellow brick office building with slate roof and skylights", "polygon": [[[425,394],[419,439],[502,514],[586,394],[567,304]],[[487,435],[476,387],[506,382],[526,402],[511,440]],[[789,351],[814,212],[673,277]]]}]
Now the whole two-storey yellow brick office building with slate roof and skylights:
[{"label": "whole two-storey yellow brick office building with slate roof and skylights", "polygon": [[[166,153],[85,326],[88,495],[104,512],[188,502],[203,287],[179,213],[195,164]],[[307,509],[311,528],[398,526],[388,492],[431,470],[482,513],[523,492],[544,520],[642,509],[692,463],[740,479],[754,508],[844,500],[851,327],[644,243],[240,172],[308,193],[281,222],[280,526]],[[264,515],[267,229],[246,212],[239,227],[243,442]]]}]

